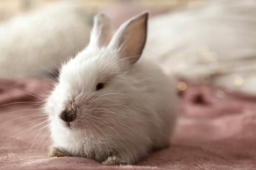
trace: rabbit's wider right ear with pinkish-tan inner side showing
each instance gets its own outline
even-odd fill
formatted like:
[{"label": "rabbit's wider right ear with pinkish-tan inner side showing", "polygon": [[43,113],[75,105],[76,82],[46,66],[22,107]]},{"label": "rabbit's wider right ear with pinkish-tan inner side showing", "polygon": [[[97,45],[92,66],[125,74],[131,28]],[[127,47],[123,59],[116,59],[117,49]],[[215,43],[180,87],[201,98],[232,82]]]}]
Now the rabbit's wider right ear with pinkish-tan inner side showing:
[{"label": "rabbit's wider right ear with pinkish-tan inner side showing", "polygon": [[108,48],[118,50],[121,58],[127,58],[129,64],[135,63],[141,57],[144,49],[147,27],[148,12],[129,19],[119,27]]}]

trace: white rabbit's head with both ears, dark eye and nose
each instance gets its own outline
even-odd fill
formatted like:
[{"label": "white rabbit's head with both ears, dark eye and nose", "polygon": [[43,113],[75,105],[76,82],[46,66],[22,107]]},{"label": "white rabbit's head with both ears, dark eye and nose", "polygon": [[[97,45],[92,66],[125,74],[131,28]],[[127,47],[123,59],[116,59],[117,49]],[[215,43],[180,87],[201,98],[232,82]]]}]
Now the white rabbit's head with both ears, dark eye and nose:
[{"label": "white rabbit's head with both ears, dark eye and nose", "polygon": [[[147,36],[148,13],[123,23],[112,36],[110,19],[94,17],[90,43],[60,70],[59,82],[46,102],[50,119],[69,130],[90,124],[109,124],[129,116],[123,109],[132,102],[133,75]],[[115,108],[119,108],[119,112]],[[97,127],[95,127],[97,128]]]}]

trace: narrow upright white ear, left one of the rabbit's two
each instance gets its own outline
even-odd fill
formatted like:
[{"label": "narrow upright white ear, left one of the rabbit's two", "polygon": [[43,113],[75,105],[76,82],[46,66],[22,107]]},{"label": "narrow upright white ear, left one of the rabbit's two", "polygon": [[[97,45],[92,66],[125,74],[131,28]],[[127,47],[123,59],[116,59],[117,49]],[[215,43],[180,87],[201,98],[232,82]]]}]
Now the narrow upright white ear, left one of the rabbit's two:
[{"label": "narrow upright white ear, left one of the rabbit's two", "polygon": [[91,31],[89,47],[107,46],[112,37],[111,21],[103,13],[94,16],[94,25]]}]

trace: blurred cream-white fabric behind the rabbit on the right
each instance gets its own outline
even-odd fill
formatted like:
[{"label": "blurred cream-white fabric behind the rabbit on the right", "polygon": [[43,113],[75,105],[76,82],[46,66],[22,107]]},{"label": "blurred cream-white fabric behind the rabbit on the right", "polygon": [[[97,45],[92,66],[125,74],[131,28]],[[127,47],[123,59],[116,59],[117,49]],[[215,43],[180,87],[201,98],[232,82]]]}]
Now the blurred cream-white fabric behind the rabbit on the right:
[{"label": "blurred cream-white fabric behind the rabbit on the right", "polygon": [[256,94],[256,1],[204,2],[151,19],[144,56],[170,75]]}]

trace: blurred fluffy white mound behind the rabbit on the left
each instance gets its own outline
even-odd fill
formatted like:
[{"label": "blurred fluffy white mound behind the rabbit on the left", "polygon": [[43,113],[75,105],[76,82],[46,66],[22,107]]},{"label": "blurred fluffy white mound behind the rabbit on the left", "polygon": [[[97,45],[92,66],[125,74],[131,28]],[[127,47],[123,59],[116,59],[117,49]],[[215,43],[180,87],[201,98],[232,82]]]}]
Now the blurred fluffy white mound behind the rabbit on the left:
[{"label": "blurred fluffy white mound behind the rabbit on the left", "polygon": [[66,2],[1,23],[0,78],[51,73],[88,44],[90,29],[82,7]]}]

